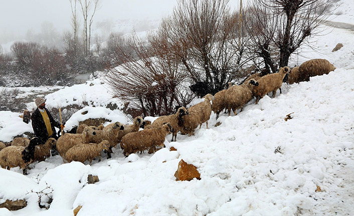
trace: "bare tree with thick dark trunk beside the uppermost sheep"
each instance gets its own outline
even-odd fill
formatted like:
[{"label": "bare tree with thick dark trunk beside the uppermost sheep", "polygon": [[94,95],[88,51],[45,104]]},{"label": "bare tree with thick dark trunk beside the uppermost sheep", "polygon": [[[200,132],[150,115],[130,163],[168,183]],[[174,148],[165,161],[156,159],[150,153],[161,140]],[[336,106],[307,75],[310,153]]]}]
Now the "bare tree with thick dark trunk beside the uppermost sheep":
[{"label": "bare tree with thick dark trunk beside the uppermost sheep", "polygon": [[[272,43],[279,52],[279,67],[288,65],[290,55],[308,36],[319,33],[317,27],[325,22],[330,12],[329,4],[323,0],[255,0],[253,4],[260,13],[257,17],[265,16],[265,38],[274,31]],[[267,21],[270,24],[265,24]]]}]

